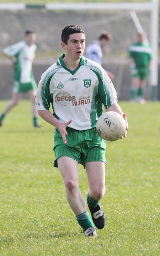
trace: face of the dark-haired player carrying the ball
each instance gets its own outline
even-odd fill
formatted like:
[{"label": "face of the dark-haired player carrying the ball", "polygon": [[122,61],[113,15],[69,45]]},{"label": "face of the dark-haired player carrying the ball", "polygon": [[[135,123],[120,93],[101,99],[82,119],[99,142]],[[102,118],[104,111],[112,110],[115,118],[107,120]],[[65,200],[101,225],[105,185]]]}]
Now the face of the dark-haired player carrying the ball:
[{"label": "face of the dark-haired player carrying the ball", "polygon": [[83,33],[71,34],[67,45],[62,42],[62,48],[70,59],[79,60],[85,49],[85,35]]}]

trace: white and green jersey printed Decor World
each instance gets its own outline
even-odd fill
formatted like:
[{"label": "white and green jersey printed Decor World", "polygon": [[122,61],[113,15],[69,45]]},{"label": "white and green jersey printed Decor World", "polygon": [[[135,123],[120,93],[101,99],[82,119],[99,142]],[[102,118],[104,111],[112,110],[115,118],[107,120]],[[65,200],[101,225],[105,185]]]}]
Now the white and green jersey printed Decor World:
[{"label": "white and green jersey printed Decor World", "polygon": [[69,127],[76,130],[96,127],[102,104],[108,109],[117,102],[112,81],[98,63],[83,56],[74,71],[67,69],[64,56],[42,74],[36,94],[37,108],[49,109],[51,103],[58,120],[72,120]]}]

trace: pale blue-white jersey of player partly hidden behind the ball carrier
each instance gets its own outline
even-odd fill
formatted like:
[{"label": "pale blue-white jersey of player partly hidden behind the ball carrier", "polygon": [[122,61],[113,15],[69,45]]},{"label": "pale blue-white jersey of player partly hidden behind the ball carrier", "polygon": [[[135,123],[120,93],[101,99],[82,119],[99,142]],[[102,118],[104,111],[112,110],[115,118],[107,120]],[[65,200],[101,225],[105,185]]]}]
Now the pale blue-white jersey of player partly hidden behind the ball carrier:
[{"label": "pale blue-white jersey of player partly hidden behind the ball carrier", "polygon": [[86,47],[85,57],[102,65],[102,49],[99,42],[94,41]]}]

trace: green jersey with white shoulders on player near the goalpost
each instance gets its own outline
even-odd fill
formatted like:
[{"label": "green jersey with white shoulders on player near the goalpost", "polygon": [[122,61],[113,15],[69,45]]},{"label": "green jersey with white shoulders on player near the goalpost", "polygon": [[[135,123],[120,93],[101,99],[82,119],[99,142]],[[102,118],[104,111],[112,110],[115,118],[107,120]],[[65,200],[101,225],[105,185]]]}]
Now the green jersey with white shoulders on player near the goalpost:
[{"label": "green jersey with white shoulders on player near the goalpost", "polygon": [[148,44],[134,43],[129,47],[129,56],[134,59],[137,67],[148,67],[152,57],[152,50]]}]

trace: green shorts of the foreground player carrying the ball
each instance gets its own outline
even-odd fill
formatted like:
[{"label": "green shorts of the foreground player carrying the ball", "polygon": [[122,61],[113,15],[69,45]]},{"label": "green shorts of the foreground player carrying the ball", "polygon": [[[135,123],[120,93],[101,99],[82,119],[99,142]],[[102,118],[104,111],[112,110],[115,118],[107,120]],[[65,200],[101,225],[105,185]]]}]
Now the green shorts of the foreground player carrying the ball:
[{"label": "green shorts of the foreground player carrying the ball", "polygon": [[68,144],[64,144],[62,136],[58,129],[54,133],[55,160],[54,167],[58,167],[57,159],[61,156],[69,156],[79,164],[85,166],[86,162],[106,161],[106,142],[97,133],[96,128],[78,131],[66,128],[68,135],[66,140]]}]

